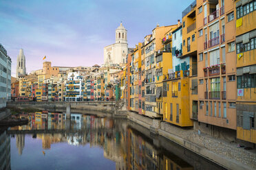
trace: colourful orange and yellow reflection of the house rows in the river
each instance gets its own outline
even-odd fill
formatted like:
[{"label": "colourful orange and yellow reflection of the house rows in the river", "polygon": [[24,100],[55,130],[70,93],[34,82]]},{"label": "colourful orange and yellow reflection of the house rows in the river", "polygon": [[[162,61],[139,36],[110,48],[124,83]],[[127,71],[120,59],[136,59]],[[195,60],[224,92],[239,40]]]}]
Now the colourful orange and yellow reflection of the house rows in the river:
[{"label": "colourful orange and yellow reflection of the house rows in the river", "polygon": [[[104,157],[116,162],[118,170],[193,169],[192,165],[178,156],[153,145],[153,139],[135,130],[129,121],[123,119],[71,114],[68,122],[65,114],[54,112],[35,112],[26,117],[30,120],[28,125],[10,129],[10,134],[16,133],[19,154],[22,154],[25,137],[17,133],[29,130],[34,138],[42,141],[43,149],[50,149],[53,143],[63,142],[75,146],[89,144],[90,147],[101,147],[104,149]],[[7,141],[10,143],[10,138]]]}]

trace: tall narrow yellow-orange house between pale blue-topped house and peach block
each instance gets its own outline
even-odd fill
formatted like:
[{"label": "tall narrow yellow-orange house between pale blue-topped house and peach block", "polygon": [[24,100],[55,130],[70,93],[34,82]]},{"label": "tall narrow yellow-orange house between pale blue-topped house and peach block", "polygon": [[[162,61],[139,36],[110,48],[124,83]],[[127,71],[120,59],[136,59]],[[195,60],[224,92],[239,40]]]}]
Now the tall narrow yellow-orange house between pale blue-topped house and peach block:
[{"label": "tall narrow yellow-orange house between pale blue-topped house and peach block", "polygon": [[[182,71],[183,76],[189,77],[188,110],[191,119],[198,119],[198,46],[197,46],[197,13],[196,1],[182,12],[182,56],[175,70]],[[183,66],[182,66],[183,63]],[[185,77],[184,76],[184,77]],[[189,124],[192,121],[189,121]]]}]

